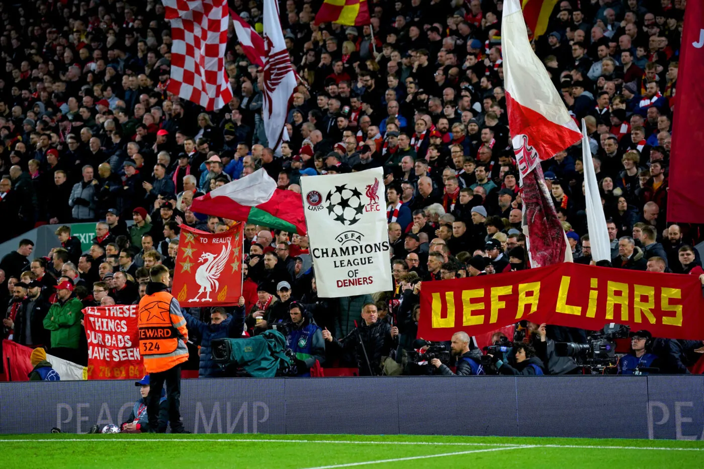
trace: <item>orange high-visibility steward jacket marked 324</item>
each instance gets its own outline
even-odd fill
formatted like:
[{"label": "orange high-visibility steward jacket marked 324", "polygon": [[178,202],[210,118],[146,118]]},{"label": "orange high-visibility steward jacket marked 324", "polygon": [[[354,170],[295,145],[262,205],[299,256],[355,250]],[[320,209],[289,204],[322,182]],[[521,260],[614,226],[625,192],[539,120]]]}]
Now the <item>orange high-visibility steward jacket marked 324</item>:
[{"label": "orange high-visibility steward jacket marked 324", "polygon": [[148,373],[158,373],[188,360],[188,349],[178,333],[187,337],[183,316],[171,314],[173,297],[161,291],[139,300],[139,352]]}]

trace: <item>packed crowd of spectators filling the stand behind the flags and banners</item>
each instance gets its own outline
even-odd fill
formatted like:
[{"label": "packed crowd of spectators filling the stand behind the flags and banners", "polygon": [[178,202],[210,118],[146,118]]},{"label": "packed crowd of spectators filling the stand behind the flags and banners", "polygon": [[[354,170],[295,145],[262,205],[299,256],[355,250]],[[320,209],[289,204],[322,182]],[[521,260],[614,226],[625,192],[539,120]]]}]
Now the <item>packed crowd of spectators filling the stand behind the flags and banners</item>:
[{"label": "packed crowd of spectators filling the stand behind the flags and banners", "polygon": [[[684,3],[558,1],[548,33],[533,44],[570,113],[586,120],[611,266],[704,283],[692,248],[701,226],[668,226],[665,213]],[[287,120],[291,140],[277,156],[263,129],[263,71],[234,34],[226,57],[234,98],[206,113],[166,91],[172,37],[158,1],[0,3],[1,240],[52,224],[61,243],[33,252],[23,240],[2,259],[3,337],[85,364],[80,309],[138,302],[151,266],[173,268],[180,224],[227,230],[230,220],[192,212],[192,200],[260,167],[298,192],[303,176],[383,167],[394,290],[318,297],[307,236],[247,225],[243,306],[184,315],[189,364],[201,376],[224,373],[210,340],[275,323],[289,323],[302,374],[315,361],[390,373],[387,357],[418,348],[422,282],[529,268],[506,118],[501,0],[368,4],[371,25],[346,27],[314,25],[316,2],[282,1],[301,84]],[[261,31],[260,3],[234,0],[232,8]],[[582,150],[542,165],[574,262],[589,264]],[[96,222],[87,252],[69,226],[79,221]],[[527,328],[535,347],[517,346],[520,358],[498,360],[500,371],[574,371],[545,344],[579,342],[583,331]],[[641,357],[646,342],[653,348],[647,335],[634,333],[632,354]],[[470,358],[460,374],[477,373],[481,352],[472,343],[453,338],[453,352]],[[659,359],[684,372],[703,345],[661,340]],[[428,368],[453,373],[439,361]]]}]

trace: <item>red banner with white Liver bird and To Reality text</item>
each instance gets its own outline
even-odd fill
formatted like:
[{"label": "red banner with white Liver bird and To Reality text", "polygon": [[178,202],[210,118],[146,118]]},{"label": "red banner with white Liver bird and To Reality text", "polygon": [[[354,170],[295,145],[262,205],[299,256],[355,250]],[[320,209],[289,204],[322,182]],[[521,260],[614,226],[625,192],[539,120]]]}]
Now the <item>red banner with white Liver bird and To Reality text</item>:
[{"label": "red banner with white Liver bird and To Reality text", "polygon": [[237,304],[242,294],[244,223],[222,233],[181,225],[171,294],[182,307]]}]

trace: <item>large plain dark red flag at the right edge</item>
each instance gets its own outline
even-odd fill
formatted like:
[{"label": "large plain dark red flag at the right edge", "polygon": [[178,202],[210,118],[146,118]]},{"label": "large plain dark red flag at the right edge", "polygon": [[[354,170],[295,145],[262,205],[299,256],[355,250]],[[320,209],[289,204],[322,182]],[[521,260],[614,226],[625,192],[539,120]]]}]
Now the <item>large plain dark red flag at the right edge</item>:
[{"label": "large plain dark red flag at the right edge", "polygon": [[[701,223],[704,200],[696,190],[704,180],[704,2],[689,1],[684,11],[684,30],[679,49],[677,101],[674,106],[672,153],[667,191],[667,221]],[[683,96],[686,96],[683,100]]]}]

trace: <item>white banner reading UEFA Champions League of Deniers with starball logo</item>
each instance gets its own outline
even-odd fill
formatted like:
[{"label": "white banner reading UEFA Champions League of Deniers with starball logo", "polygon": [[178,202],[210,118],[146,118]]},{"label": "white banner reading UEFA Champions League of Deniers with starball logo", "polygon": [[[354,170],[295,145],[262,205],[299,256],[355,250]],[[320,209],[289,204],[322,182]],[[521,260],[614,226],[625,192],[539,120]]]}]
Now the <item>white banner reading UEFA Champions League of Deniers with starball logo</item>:
[{"label": "white banner reading UEFA Champions League of Deniers with starball logo", "polygon": [[391,290],[382,168],[301,178],[318,295]]}]

